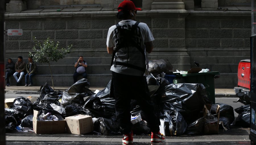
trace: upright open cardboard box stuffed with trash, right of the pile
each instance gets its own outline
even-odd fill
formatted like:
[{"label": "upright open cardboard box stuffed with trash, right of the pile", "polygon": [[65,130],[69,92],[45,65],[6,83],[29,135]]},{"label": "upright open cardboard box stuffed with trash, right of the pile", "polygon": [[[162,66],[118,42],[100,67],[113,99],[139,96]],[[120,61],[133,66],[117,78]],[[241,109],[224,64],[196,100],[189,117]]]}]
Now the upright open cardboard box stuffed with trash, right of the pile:
[{"label": "upright open cardboard box stuffed with trash, right of the pile", "polygon": [[[208,113],[209,112],[209,113]],[[219,118],[220,118],[220,105],[205,105],[205,134],[218,134],[219,133]]]}]

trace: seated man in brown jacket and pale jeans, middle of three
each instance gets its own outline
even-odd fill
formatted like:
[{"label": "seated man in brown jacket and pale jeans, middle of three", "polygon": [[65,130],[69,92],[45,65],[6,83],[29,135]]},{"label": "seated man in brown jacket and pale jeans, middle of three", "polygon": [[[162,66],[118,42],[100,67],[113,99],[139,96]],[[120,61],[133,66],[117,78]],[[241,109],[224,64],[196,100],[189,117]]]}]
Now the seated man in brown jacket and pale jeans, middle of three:
[{"label": "seated man in brown jacket and pale jeans, middle of three", "polygon": [[[15,73],[13,74],[15,80],[17,81],[16,86],[20,86],[20,80],[26,71],[26,63],[22,60],[22,56],[18,57],[18,61],[15,63]],[[18,78],[17,75],[20,75]]]}]

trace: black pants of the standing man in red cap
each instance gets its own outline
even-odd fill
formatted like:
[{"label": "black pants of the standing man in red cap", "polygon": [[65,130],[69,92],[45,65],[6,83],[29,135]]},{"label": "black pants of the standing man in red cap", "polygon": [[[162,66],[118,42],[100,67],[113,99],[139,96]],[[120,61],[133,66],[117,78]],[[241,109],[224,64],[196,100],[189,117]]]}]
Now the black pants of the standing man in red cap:
[{"label": "black pants of the standing man in red cap", "polygon": [[112,72],[117,121],[124,134],[131,131],[131,99],[137,100],[152,132],[159,131],[160,119],[154,114],[145,76],[131,76]]}]

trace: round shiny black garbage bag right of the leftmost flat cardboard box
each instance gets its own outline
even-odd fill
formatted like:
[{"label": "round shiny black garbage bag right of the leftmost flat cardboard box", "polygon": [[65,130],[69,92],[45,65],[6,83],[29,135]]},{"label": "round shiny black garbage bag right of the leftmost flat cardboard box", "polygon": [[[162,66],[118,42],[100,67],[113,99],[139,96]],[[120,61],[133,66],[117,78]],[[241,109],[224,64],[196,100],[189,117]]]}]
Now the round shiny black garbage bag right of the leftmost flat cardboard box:
[{"label": "round shiny black garbage bag right of the leftmost flat cardboard box", "polygon": [[15,98],[15,100],[13,101],[13,105],[11,105],[11,108],[13,108],[15,114],[17,114],[20,119],[23,119],[26,116],[33,114],[33,104],[30,102],[29,99],[22,96]]}]

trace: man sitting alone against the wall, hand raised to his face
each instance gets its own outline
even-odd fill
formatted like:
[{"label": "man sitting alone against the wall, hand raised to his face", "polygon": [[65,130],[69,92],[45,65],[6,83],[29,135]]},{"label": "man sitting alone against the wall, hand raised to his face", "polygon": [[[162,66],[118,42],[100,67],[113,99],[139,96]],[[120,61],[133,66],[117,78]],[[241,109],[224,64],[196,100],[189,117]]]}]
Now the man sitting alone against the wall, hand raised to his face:
[{"label": "man sitting alone against the wall, hand raised to his face", "polygon": [[86,67],[87,63],[84,61],[84,58],[82,56],[79,56],[78,61],[75,63],[76,71],[73,75],[74,84],[77,82],[77,77],[79,75],[82,75],[83,78],[87,79]]}]

